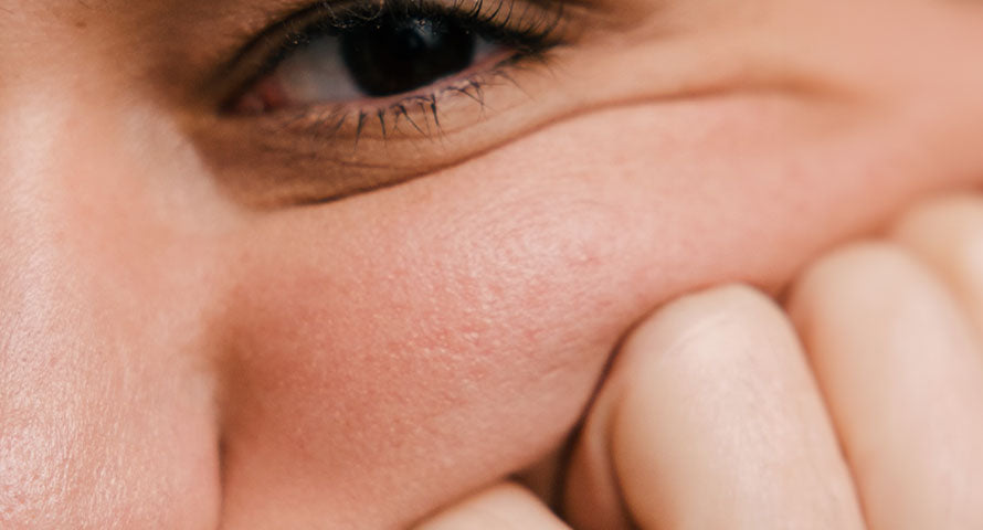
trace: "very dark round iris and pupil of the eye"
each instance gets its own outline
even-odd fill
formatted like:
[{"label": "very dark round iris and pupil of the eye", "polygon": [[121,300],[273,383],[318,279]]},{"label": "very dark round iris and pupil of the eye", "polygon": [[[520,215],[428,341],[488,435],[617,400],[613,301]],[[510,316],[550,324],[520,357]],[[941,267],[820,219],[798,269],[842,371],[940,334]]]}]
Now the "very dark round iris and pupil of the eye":
[{"label": "very dark round iris and pupil of the eye", "polygon": [[451,20],[388,18],[346,31],[340,45],[359,88],[382,97],[426,86],[471,66],[476,39]]}]

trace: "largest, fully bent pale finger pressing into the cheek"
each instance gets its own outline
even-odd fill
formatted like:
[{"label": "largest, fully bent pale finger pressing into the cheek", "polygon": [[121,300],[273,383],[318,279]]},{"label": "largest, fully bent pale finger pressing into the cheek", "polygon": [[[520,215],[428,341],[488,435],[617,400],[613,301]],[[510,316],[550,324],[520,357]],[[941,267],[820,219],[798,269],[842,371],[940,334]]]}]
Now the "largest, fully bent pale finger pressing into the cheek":
[{"label": "largest, fully bent pale finger pressing into the cheek", "polygon": [[606,468],[642,528],[862,528],[803,352],[771,300],[742,287],[684,298],[621,356],[574,455],[575,526],[611,528],[586,502]]}]

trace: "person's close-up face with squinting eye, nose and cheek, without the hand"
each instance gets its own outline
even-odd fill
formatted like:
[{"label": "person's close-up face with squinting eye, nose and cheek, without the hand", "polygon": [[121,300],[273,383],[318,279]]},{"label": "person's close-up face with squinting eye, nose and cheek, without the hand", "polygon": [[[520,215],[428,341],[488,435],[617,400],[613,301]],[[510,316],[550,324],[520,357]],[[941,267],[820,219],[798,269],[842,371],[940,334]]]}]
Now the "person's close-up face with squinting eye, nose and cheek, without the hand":
[{"label": "person's close-up face with squinting eye, nose and cheek, without the hand", "polygon": [[404,524],[669,297],[983,181],[980,2],[434,0],[525,33],[377,99],[281,45],[346,2],[0,0],[0,526]]}]

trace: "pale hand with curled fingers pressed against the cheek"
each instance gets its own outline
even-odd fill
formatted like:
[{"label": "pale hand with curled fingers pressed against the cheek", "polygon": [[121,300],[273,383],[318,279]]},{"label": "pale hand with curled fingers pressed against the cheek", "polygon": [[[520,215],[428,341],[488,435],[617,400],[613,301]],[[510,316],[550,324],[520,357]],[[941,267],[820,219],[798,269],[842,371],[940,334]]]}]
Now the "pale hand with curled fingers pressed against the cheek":
[{"label": "pale hand with curled fingers pressed against the cheek", "polygon": [[790,293],[709,289],[630,335],[567,522],[505,484],[422,528],[983,528],[983,199],[922,204]]}]

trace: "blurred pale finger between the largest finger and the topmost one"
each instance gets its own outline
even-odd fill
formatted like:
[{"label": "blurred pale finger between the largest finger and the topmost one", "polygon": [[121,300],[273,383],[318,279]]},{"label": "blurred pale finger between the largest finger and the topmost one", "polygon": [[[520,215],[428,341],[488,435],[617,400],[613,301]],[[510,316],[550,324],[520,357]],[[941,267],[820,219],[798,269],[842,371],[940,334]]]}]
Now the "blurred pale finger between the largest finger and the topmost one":
[{"label": "blurred pale finger between the largest finger and the topmost one", "polygon": [[983,356],[897,247],[813,267],[790,303],[875,530],[983,528]]}]

